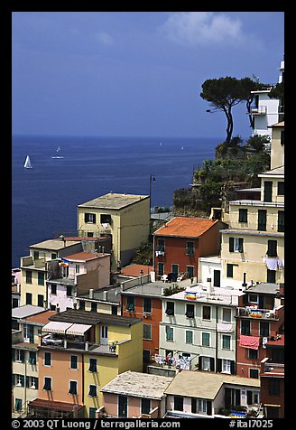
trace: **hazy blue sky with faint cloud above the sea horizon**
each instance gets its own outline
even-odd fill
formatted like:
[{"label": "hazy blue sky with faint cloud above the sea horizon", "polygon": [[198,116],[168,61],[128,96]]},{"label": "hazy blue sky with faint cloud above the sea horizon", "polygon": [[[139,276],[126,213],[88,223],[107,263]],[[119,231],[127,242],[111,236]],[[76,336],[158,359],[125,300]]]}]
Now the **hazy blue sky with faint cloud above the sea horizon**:
[{"label": "hazy blue sky with faint cloud above the sea horizon", "polygon": [[[225,136],[206,79],[275,84],[283,12],[14,12],[13,132]],[[234,135],[250,136],[245,105]]]}]

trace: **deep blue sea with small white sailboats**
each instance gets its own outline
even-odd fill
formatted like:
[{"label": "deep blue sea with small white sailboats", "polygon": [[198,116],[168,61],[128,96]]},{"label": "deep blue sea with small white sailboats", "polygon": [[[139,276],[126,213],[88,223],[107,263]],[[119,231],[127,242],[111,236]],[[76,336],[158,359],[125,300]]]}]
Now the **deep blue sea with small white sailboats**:
[{"label": "deep blue sea with small white sailboats", "polygon": [[[150,192],[152,208],[171,207],[194,170],[223,138],[13,136],[12,267],[29,247],[74,235],[77,206],[106,194]],[[29,155],[32,169],[23,167]],[[60,158],[52,158],[59,156]],[[151,178],[155,179],[151,181]]]}]

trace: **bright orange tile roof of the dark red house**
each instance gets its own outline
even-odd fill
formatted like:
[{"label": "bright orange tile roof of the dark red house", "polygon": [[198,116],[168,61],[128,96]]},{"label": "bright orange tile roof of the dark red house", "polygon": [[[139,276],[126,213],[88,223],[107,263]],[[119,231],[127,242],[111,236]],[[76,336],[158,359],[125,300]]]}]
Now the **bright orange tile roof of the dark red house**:
[{"label": "bright orange tile roof of the dark red house", "polygon": [[210,229],[217,220],[196,217],[174,217],[165,226],[154,231],[154,236],[180,236],[181,238],[199,238]]}]

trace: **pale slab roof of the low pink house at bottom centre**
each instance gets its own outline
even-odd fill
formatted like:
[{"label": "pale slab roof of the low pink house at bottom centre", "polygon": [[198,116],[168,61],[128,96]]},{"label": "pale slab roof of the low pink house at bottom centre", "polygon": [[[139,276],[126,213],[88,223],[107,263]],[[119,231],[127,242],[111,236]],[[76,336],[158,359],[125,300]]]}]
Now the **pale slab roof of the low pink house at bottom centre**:
[{"label": "pale slab roof of the low pink house at bottom centre", "polygon": [[101,388],[103,393],[161,400],[172,378],[127,370]]}]

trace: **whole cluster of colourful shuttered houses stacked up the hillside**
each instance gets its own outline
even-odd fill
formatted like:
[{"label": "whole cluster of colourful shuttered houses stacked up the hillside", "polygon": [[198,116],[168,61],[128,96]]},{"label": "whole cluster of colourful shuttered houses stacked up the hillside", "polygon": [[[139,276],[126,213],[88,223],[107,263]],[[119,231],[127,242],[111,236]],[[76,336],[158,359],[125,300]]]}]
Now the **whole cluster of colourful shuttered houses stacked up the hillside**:
[{"label": "whole cluster of colourful shuttered houses stacked up the hillside", "polygon": [[[14,417],[284,416],[284,122],[269,127],[270,170],[227,210],[152,229],[149,195],[110,192],[79,204],[76,236],[29,247]],[[130,264],[151,233],[153,265]]]}]

